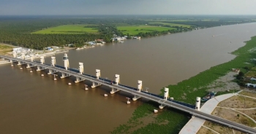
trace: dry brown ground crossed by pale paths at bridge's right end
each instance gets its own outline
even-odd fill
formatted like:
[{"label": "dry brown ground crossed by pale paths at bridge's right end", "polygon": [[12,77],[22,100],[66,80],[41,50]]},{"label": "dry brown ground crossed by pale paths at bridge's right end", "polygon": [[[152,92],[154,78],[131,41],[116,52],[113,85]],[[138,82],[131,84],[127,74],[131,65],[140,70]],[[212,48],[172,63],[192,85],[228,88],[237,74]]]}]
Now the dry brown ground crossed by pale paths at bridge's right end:
[{"label": "dry brown ground crossed by pale paths at bridge's right end", "polygon": [[[241,90],[242,91],[242,90]],[[246,94],[246,95],[244,95]],[[252,95],[253,97],[247,96],[247,94]],[[222,95],[221,95],[222,96]],[[237,92],[236,95],[230,97],[224,101],[219,101],[219,104],[209,114],[213,114],[217,117],[222,117],[224,119],[230,120],[232,122],[237,122],[248,127],[256,127],[256,94],[253,92]],[[241,133],[238,130],[233,130],[233,128],[218,125],[214,122],[205,121],[201,124],[200,130],[197,131],[200,133]]]}]

